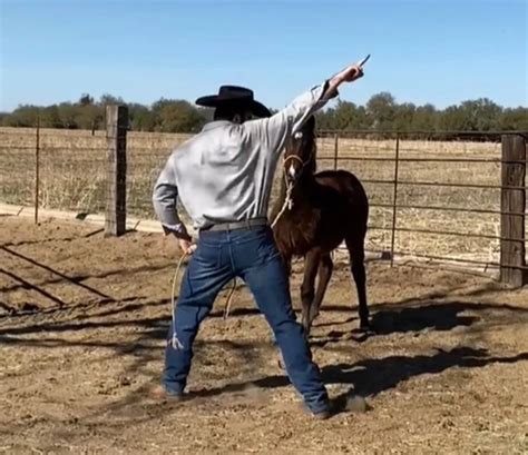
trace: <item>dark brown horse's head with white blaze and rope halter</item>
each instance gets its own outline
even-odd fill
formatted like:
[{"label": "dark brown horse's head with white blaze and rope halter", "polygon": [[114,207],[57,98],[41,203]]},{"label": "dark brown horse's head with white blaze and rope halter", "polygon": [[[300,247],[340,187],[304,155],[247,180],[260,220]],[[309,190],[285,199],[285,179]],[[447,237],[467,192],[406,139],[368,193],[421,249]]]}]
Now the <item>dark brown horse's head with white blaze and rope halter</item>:
[{"label": "dark brown horse's head with white blaze and rope halter", "polygon": [[303,175],[314,174],[315,158],[315,118],[310,116],[286,146],[283,164],[286,180],[295,184]]}]

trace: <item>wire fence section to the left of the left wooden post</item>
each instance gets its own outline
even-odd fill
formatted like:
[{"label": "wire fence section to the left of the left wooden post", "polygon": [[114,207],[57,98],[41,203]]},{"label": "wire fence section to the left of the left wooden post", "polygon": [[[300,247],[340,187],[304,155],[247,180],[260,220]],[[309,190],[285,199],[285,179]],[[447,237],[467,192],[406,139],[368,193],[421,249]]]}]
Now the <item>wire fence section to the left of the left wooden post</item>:
[{"label": "wire fence section to the left of the left wooden post", "polygon": [[105,210],[104,131],[0,128],[0,201],[77,212]]}]

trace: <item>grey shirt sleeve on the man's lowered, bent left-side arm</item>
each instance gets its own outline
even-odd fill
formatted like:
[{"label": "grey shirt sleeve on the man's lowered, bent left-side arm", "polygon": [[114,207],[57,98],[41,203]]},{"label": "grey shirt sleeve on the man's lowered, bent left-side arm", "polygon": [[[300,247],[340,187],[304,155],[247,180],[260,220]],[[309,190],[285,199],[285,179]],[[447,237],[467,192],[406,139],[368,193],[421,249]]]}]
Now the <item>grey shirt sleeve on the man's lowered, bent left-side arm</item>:
[{"label": "grey shirt sleeve on the man's lowered, bent left-side arm", "polygon": [[178,187],[176,185],[176,172],[174,170],[173,160],[174,155],[167,160],[154,186],[154,211],[160,220],[165,234],[174,234],[176,237],[186,237],[188,236],[187,228],[179,219],[176,208]]}]

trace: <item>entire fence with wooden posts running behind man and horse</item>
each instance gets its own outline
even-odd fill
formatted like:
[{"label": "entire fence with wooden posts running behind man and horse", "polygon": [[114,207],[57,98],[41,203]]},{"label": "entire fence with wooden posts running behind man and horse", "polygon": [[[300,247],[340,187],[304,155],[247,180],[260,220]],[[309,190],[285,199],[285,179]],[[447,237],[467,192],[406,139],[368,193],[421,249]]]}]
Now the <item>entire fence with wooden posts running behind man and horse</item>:
[{"label": "entire fence with wooden posts running behind man and horse", "polygon": [[[155,220],[154,182],[188,137],[130,132],[127,109],[117,106],[107,108],[106,131],[1,128],[0,201],[32,207],[36,221],[39,208],[100,214],[106,235],[121,235],[127,217]],[[391,265],[460,264],[520,285],[528,275],[526,145],[518,131],[319,131],[317,167],[361,179],[371,206],[368,249]]]}]

